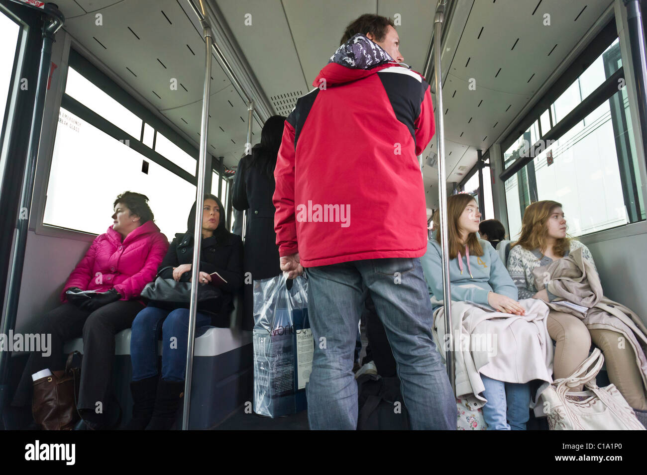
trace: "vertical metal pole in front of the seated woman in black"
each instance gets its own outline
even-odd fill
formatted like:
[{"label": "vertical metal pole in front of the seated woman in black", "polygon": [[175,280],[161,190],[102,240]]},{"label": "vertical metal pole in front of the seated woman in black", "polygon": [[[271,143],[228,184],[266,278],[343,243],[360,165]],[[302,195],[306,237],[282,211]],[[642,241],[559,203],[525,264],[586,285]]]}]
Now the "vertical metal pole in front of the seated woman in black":
[{"label": "vertical metal pole in front of the seated woman in black", "polygon": [[[211,28],[203,23],[204,35],[204,91],[203,111],[200,125],[200,156],[198,166],[197,192],[195,196],[195,227],[193,228],[193,264],[191,266],[191,304],[189,306],[189,335],[186,348],[186,376],[184,377],[184,411],[182,412],[182,430],[189,429],[189,414],[191,410],[191,380],[193,372],[193,343],[195,342],[195,314],[198,304],[198,286],[200,272],[200,252],[202,248],[202,218],[204,200],[204,176],[206,175],[206,146],[209,125],[209,92],[211,81]],[[220,177],[218,177],[220,180]]]}]

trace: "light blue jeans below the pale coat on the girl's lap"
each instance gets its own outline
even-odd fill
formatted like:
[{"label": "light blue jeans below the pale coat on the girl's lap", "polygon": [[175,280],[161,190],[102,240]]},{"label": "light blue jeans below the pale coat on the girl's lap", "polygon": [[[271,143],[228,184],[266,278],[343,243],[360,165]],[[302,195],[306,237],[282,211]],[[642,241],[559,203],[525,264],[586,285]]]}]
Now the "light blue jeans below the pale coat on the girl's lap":
[{"label": "light blue jeans below the pale coat on the girl's lap", "polygon": [[526,430],[530,417],[530,383],[503,383],[481,374],[485,386],[483,419],[488,430]]}]

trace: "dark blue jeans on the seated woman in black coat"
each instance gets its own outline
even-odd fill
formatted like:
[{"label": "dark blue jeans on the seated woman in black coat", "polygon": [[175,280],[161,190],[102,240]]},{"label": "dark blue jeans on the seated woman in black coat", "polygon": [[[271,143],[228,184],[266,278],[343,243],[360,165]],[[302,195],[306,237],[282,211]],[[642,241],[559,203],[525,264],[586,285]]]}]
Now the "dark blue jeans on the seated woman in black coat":
[{"label": "dark blue jeans on the seated woman in black coat", "polygon": [[[195,316],[195,337],[198,330],[211,323],[210,315],[198,312]],[[157,376],[157,341],[162,332],[162,379],[184,381],[186,348],[189,335],[189,309],[166,310],[148,306],[133,321],[130,355],[133,363],[133,381]]]}]

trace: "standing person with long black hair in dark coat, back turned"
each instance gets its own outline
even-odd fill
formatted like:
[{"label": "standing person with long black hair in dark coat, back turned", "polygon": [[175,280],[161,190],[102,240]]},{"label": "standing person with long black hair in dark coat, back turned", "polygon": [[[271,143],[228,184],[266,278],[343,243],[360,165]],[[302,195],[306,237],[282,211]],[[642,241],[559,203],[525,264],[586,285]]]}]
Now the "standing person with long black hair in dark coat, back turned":
[{"label": "standing person with long black hair in dark coat, back turned", "polygon": [[[281,147],[285,117],[272,116],[263,125],[261,143],[241,158],[234,177],[232,204],[247,209],[243,268],[243,330],[254,327],[253,280],[269,279],[281,273],[279,248],[274,233],[274,167]],[[251,274],[251,278],[250,277]]]}]

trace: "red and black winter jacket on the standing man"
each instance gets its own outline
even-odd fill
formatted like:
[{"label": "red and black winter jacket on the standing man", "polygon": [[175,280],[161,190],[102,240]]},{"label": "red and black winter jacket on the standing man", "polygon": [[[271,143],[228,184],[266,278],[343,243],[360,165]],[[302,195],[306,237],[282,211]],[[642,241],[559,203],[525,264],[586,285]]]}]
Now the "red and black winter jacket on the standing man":
[{"label": "red and black winter jacket on the standing man", "polygon": [[362,46],[366,58],[338,50],[285,121],[274,229],[280,255],[298,251],[304,267],[426,251],[417,154],[434,132],[430,89],[377,48]]}]

